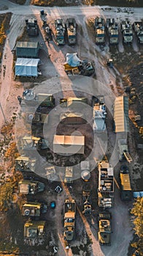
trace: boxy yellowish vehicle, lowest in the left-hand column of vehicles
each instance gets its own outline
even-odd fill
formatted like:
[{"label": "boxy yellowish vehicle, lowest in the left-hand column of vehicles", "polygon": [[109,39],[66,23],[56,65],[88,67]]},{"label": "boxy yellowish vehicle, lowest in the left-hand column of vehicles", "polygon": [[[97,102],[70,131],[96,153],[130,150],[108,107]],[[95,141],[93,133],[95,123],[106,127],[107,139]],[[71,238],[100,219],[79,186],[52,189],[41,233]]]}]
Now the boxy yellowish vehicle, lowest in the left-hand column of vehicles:
[{"label": "boxy yellowish vehicle, lowest in the left-hand column of vehicles", "polygon": [[42,241],[45,234],[45,224],[46,222],[43,220],[28,220],[24,225],[24,238],[28,238],[30,241],[34,239]]}]

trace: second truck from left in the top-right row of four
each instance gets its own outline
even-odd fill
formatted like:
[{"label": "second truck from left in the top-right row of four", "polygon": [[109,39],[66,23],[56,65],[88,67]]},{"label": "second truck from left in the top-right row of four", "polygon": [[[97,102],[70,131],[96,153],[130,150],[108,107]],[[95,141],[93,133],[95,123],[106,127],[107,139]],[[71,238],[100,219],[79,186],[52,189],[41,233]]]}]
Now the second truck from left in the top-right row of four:
[{"label": "second truck from left in the top-right row of four", "polygon": [[117,45],[119,42],[119,32],[118,32],[118,25],[115,22],[114,18],[107,18],[107,33],[109,35],[109,44],[110,45]]}]

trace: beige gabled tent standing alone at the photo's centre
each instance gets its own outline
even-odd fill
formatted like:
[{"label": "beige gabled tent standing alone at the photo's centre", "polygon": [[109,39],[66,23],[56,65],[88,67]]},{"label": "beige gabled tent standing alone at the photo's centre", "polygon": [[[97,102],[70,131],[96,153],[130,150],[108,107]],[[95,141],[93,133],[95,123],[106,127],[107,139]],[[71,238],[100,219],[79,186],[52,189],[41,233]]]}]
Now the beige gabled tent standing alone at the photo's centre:
[{"label": "beige gabled tent standing alone at the photo's centre", "polygon": [[54,135],[53,152],[56,154],[84,154],[85,136]]}]

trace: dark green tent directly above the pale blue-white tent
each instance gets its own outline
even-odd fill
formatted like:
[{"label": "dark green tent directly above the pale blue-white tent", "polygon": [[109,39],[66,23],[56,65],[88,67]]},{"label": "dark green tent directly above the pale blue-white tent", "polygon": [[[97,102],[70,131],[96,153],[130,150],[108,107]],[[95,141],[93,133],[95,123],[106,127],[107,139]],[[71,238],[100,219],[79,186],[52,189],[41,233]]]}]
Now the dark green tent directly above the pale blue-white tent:
[{"label": "dark green tent directly above the pale blue-white tent", "polygon": [[17,42],[17,58],[37,59],[39,56],[39,42]]}]

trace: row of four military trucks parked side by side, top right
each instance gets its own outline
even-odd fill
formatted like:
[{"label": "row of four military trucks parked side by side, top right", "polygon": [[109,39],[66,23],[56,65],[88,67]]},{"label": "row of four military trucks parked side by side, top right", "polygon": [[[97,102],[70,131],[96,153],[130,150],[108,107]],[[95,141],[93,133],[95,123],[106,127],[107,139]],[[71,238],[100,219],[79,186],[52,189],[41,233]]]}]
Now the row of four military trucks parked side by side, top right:
[{"label": "row of four military trucks parked side by side, top right", "polygon": [[[106,34],[109,36],[109,44],[117,45],[119,42],[119,24],[115,18],[96,17],[94,23],[96,44],[105,44]],[[133,42],[133,35],[136,34],[138,42],[143,43],[143,22],[136,21],[131,24],[130,20],[126,19],[120,23],[120,31],[123,36],[123,43],[128,44]]]}]

